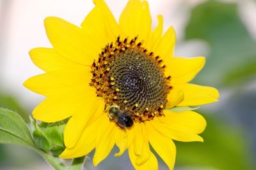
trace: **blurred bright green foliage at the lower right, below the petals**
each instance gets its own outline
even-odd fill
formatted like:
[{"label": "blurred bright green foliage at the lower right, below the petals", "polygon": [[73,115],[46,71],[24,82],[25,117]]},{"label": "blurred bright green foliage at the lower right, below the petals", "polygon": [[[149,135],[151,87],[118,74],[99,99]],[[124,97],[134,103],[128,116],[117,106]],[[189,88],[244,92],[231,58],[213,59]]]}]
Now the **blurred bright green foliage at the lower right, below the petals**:
[{"label": "blurred bright green foliage at the lower right, below the petals", "polygon": [[252,169],[248,141],[237,127],[218,120],[214,115],[204,115],[207,120],[204,143],[175,142],[177,165],[213,167],[220,170]]}]

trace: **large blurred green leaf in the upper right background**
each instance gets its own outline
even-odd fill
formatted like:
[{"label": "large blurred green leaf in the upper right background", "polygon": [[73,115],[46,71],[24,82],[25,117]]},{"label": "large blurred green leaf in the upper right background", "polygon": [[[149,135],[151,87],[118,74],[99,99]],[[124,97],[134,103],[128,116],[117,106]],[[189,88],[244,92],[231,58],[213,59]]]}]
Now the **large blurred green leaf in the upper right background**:
[{"label": "large blurred green leaf in the upper right background", "polygon": [[237,4],[207,1],[191,11],[186,39],[203,39],[211,52],[196,82],[225,87],[256,76],[256,42],[239,18]]}]

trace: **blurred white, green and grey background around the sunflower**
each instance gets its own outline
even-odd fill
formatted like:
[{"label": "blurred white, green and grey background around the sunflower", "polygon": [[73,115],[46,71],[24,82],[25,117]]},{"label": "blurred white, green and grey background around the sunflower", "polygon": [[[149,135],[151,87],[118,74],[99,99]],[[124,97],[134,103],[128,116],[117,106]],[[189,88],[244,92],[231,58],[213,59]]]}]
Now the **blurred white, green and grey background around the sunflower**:
[{"label": "blurred white, green and grey background around the sunflower", "polygon": [[[106,0],[116,18],[127,0]],[[220,102],[202,106],[207,129],[204,143],[179,143],[175,169],[256,169],[256,1],[148,0],[153,25],[164,17],[164,29],[177,32],[175,55],[206,56],[194,83],[220,90]],[[28,115],[43,97],[22,83],[42,73],[29,59],[38,46],[51,46],[44,18],[57,16],[80,25],[93,8],[88,0],[0,0],[0,107]],[[132,169],[128,154],[86,169]],[[125,166],[125,167],[124,167]],[[27,148],[0,145],[0,169],[51,169]],[[167,169],[159,159],[159,169]]]}]

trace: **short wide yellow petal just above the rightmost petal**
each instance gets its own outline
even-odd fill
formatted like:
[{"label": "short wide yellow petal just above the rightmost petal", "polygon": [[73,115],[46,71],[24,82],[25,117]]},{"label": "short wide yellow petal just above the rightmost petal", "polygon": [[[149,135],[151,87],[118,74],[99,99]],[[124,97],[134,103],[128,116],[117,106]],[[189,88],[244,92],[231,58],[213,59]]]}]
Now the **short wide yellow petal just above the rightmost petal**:
[{"label": "short wide yellow petal just above the rightmost petal", "polygon": [[172,83],[186,83],[196,76],[204,64],[205,57],[173,57],[168,67],[166,66],[166,75],[172,76]]}]

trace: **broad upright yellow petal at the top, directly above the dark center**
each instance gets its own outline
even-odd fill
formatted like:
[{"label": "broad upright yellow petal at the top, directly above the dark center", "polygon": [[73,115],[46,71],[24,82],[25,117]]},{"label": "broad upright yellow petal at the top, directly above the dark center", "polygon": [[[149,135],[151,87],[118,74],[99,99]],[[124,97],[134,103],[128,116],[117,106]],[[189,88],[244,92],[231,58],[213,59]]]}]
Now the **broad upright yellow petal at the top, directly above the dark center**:
[{"label": "broad upright yellow petal at the top, directly above the dark center", "polygon": [[151,17],[147,1],[130,0],[119,19],[122,36],[147,41],[151,31]]}]

